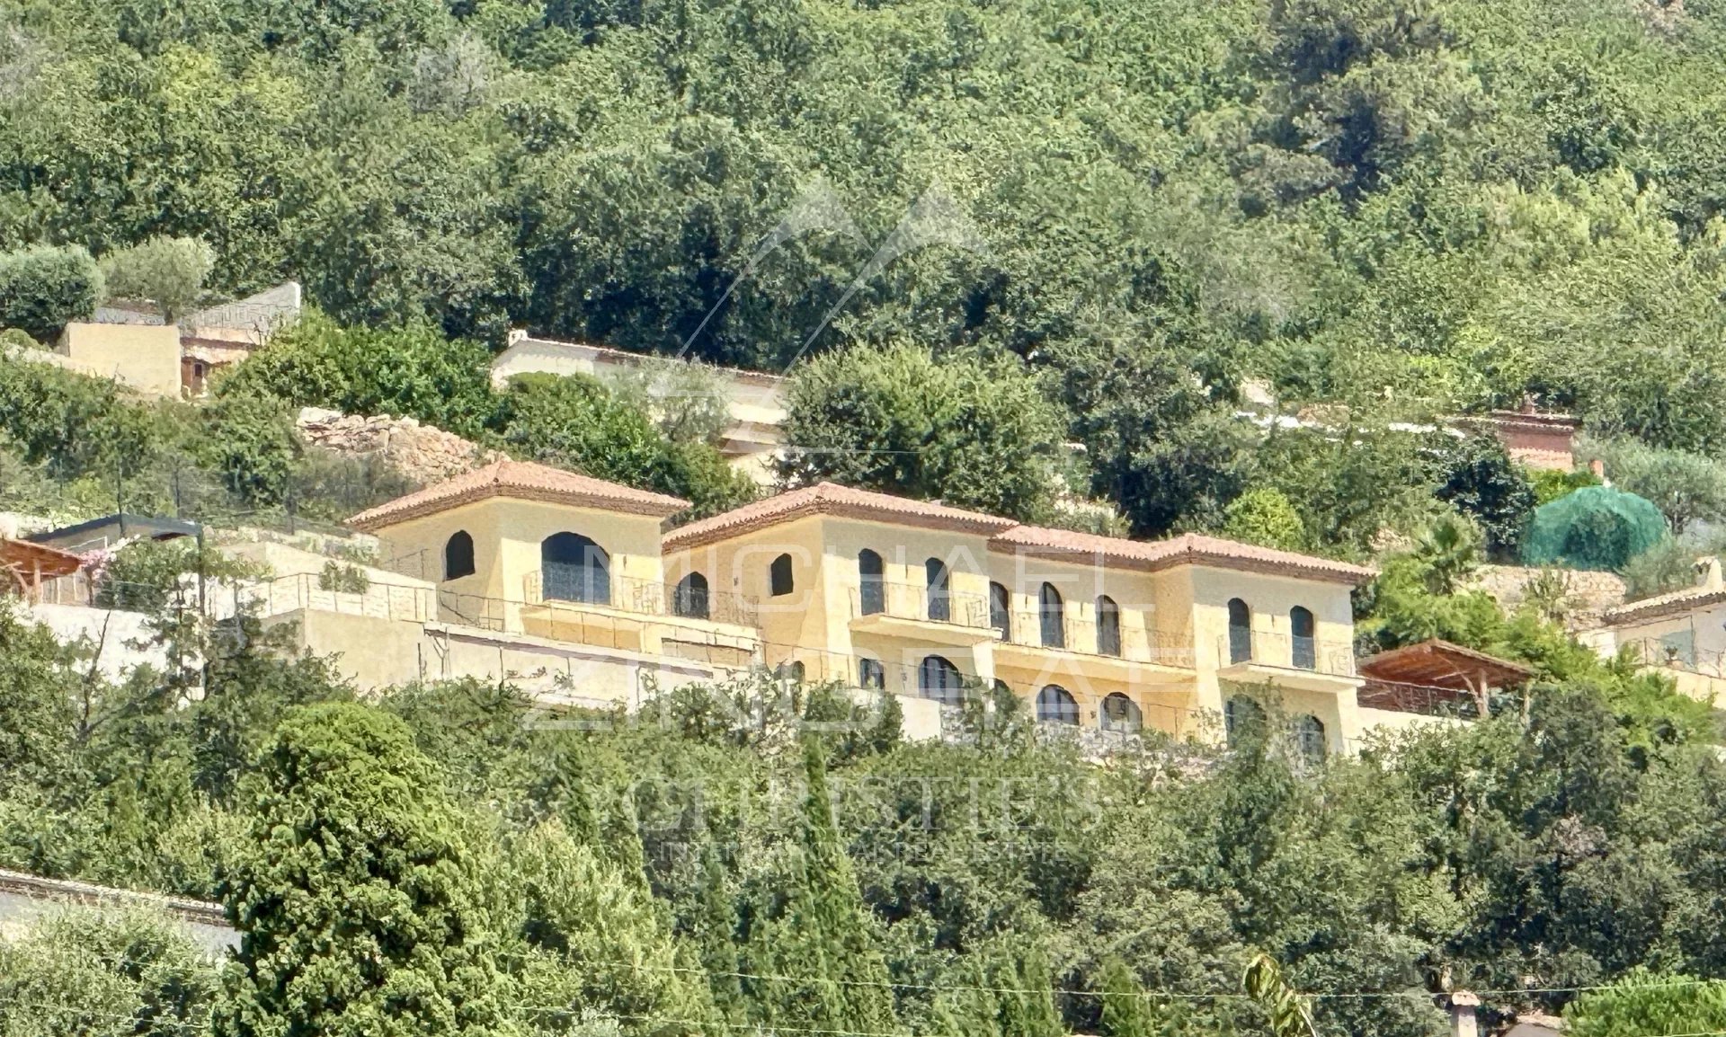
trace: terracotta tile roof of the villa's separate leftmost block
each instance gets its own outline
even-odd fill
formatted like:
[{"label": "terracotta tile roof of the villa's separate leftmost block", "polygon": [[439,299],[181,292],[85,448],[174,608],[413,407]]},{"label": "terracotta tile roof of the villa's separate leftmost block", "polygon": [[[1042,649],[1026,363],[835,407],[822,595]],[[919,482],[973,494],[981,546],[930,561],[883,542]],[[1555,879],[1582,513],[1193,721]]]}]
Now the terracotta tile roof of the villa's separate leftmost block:
[{"label": "terracotta tile roof of the villa's separate leftmost block", "polygon": [[678,497],[633,490],[561,468],[547,468],[532,461],[495,461],[416,493],[397,497],[388,504],[380,504],[371,511],[362,511],[347,519],[347,525],[356,530],[381,530],[487,497],[545,500],[652,518],[666,518],[689,507],[689,500]]}]

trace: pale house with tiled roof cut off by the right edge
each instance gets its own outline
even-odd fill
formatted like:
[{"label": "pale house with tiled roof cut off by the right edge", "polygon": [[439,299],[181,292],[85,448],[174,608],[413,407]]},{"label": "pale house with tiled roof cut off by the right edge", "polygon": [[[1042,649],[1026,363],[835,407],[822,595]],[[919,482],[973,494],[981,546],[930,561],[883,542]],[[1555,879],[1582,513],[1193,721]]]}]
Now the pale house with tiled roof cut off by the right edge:
[{"label": "pale house with tiled roof cut off by the right edge", "polygon": [[1726,578],[1717,557],[1697,561],[1697,585],[1607,609],[1579,640],[1607,659],[1629,652],[1691,699],[1726,702]]}]

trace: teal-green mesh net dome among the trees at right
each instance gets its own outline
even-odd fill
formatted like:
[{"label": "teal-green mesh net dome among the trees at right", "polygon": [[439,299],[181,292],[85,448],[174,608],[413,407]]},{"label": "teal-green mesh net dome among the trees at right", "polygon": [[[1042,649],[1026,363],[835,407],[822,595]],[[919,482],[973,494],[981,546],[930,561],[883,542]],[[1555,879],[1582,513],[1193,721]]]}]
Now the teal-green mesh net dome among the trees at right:
[{"label": "teal-green mesh net dome among the trees at right", "polygon": [[1645,497],[1583,487],[1534,509],[1522,564],[1617,571],[1664,538],[1666,516]]}]

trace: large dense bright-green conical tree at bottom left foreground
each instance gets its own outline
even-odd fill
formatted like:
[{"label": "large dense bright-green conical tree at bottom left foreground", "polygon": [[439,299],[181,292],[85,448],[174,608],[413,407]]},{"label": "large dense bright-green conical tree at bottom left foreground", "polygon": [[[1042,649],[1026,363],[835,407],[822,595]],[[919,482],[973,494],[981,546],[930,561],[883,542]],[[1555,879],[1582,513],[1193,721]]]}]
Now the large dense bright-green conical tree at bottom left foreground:
[{"label": "large dense bright-green conical tree at bottom left foreground", "polygon": [[219,1037],[499,1032],[492,920],[459,816],[400,720],[295,709],[254,792],[250,844],[223,882],[240,952]]}]

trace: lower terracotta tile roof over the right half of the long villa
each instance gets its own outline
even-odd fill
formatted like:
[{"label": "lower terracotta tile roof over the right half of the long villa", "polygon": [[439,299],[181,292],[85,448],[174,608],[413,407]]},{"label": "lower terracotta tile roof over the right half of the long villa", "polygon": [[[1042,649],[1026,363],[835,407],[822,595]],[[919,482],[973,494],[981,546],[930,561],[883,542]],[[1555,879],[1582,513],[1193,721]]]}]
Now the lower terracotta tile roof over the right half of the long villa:
[{"label": "lower terracotta tile roof over the right half of the long villa", "polygon": [[1105,562],[1144,571],[1191,564],[1270,575],[1296,575],[1355,585],[1365,583],[1377,575],[1365,566],[1296,554],[1293,550],[1255,547],[1200,533],[1186,533],[1170,540],[1122,540],[1118,537],[1098,537],[1072,530],[1013,526],[998,533],[989,545],[1005,554],[1027,552],[1056,559],[1103,559]]}]

